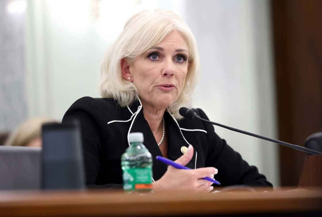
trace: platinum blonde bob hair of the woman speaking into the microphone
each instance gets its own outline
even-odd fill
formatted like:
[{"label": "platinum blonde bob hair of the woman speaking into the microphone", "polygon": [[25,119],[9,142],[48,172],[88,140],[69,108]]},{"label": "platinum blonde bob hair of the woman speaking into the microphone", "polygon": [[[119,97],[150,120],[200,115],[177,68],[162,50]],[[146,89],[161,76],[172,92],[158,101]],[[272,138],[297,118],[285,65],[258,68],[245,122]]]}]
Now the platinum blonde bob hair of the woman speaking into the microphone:
[{"label": "platinum blonde bob hair of the woman speaking into the microphone", "polygon": [[160,43],[169,33],[177,31],[185,39],[190,63],[185,85],[178,99],[167,108],[176,119],[182,118],[179,109],[191,107],[192,93],[200,73],[197,43],[184,20],[172,11],[142,11],[128,19],[122,33],[108,48],[101,65],[99,91],[103,98],[114,98],[122,107],[138,98],[136,86],[123,78],[121,59],[132,63],[135,57]]}]

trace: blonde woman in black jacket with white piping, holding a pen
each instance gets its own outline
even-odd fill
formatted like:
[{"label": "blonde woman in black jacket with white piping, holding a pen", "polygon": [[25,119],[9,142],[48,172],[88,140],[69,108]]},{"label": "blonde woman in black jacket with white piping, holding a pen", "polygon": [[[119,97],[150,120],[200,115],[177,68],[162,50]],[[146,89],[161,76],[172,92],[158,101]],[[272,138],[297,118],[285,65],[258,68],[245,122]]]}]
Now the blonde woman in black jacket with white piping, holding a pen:
[{"label": "blonde woman in black jacket with white piping, holding a pen", "polygon": [[[195,38],[178,15],[143,11],[128,20],[101,67],[103,98],[83,97],[63,117],[81,123],[88,185],[122,187],[121,154],[130,145],[129,133],[142,132],[153,159],[163,155],[195,169],[154,161],[155,191],[209,192],[212,183],[201,178],[214,175],[223,186],[271,186],[212,125],[179,115],[180,107],[191,107],[199,70]],[[201,109],[194,111],[208,119]]]}]

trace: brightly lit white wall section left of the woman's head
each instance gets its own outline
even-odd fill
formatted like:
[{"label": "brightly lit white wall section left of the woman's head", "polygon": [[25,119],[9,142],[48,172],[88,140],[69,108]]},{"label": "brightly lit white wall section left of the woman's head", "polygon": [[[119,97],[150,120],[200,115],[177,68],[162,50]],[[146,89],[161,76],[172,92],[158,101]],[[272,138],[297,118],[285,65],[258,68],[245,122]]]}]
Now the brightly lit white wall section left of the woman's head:
[{"label": "brightly lit white wall section left of the woman's head", "polygon": [[109,44],[130,15],[158,7],[157,1],[126,2],[124,8],[123,1],[28,1],[30,116],[61,120],[78,98],[99,97],[100,63]]}]

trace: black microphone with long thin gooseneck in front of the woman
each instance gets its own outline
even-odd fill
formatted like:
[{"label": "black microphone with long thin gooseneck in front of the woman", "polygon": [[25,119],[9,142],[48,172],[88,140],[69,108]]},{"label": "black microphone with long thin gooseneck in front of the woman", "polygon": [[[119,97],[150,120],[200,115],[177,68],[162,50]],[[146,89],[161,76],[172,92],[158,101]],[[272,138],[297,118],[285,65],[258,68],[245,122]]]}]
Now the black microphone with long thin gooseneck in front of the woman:
[{"label": "black microphone with long thin gooseneck in front of the woman", "polygon": [[271,138],[261,136],[261,135],[257,135],[257,134],[254,134],[254,133],[249,133],[247,131],[243,131],[243,130],[232,128],[232,127],[229,127],[229,126],[225,126],[225,125],[220,124],[220,123],[215,123],[215,122],[212,122],[212,121],[208,121],[206,119],[201,118],[200,116],[197,115],[197,113],[195,113],[194,111],[192,111],[191,109],[188,109],[186,107],[181,107],[179,109],[179,114],[181,116],[187,118],[187,119],[200,120],[200,121],[203,121],[203,122],[206,122],[206,123],[211,123],[213,125],[217,125],[217,126],[226,128],[228,130],[232,130],[232,131],[235,131],[235,132],[238,132],[238,133],[243,133],[243,134],[246,134],[246,135],[250,135],[250,136],[260,138],[260,139],[263,139],[263,140],[267,140],[267,141],[270,141],[270,142],[273,142],[273,143],[278,143],[278,144],[281,144],[281,145],[285,145],[287,147],[294,148],[294,149],[302,151],[302,152],[310,153],[310,154],[313,154],[313,155],[322,154],[321,152],[311,150],[311,149],[308,149],[308,148],[305,148],[305,147],[302,147],[302,146],[299,146],[299,145],[293,145],[291,143],[285,143],[283,141],[279,141],[279,140],[276,140],[276,139],[271,139]]}]

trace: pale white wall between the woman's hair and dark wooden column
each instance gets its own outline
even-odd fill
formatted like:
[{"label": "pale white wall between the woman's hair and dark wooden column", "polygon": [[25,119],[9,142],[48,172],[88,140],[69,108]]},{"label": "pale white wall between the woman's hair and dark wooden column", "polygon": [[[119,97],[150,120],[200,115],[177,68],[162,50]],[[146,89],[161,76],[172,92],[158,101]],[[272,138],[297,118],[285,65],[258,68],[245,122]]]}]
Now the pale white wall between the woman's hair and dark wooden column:
[{"label": "pale white wall between the woman's hair and dark wooden column", "polygon": [[[269,2],[189,1],[185,20],[202,64],[194,106],[214,122],[276,138]],[[215,131],[279,185],[276,144],[221,127]]]}]

